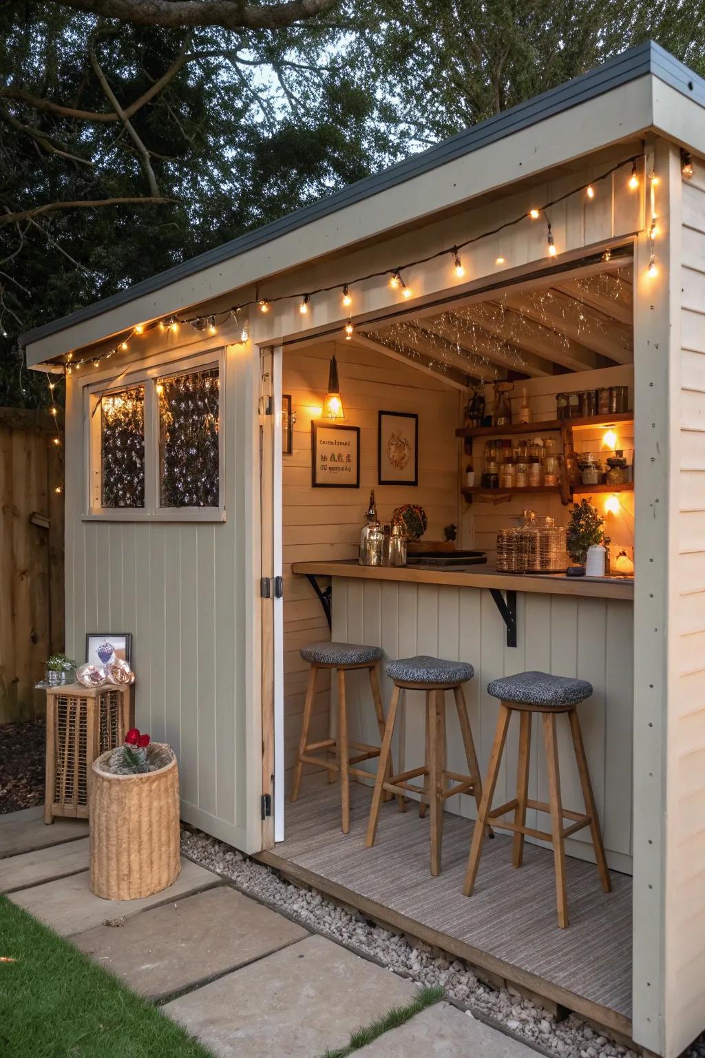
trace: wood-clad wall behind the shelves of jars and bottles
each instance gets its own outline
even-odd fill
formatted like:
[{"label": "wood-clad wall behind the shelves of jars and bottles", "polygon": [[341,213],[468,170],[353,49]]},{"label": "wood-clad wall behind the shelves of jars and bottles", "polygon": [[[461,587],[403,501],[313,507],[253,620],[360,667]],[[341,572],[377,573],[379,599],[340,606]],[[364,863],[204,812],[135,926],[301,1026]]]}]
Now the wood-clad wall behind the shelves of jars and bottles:
[{"label": "wood-clad wall behind the shelves of jars and bottles", "polygon": [[[560,451],[560,438],[558,434],[541,435],[539,422],[541,419],[556,418],[556,394],[563,390],[593,389],[607,385],[629,386],[630,407],[633,407],[633,381],[634,368],[631,364],[619,367],[605,367],[594,371],[579,371],[570,375],[553,375],[542,378],[527,379],[525,382],[517,382],[512,394],[513,412],[518,415],[521,403],[521,390],[526,388],[528,403],[532,409],[532,419],[536,419],[536,435],[551,436],[557,439]],[[631,424],[620,424],[615,426],[618,443],[617,448],[625,450],[625,456],[632,462],[634,449],[634,433]],[[601,453],[604,460],[607,449],[602,443],[605,431],[576,430],[574,433],[576,452]],[[479,458],[484,452],[484,439],[474,442],[474,458],[477,457],[474,466],[476,468],[476,485],[480,484],[480,470],[482,459]],[[467,463],[463,457],[463,468]],[[499,490],[501,492],[501,489]],[[586,487],[586,497],[590,496],[590,489]],[[579,499],[580,496],[576,496]],[[606,531],[612,540],[612,553],[616,554],[621,547],[633,549],[634,546],[634,504],[633,493],[621,492],[619,498],[623,509],[618,514],[606,515],[604,512],[605,495],[597,495],[594,499],[595,506],[606,519]],[[521,515],[525,508],[535,510],[537,514],[551,515],[556,519],[557,525],[567,525],[570,517],[570,507],[563,507],[560,498],[556,495],[531,494],[527,496],[513,495],[508,501],[488,503],[474,498],[472,504],[463,504],[462,510],[462,541],[466,547],[479,548],[487,552],[488,561],[495,560],[497,549],[497,530],[514,525],[512,518]]]}]

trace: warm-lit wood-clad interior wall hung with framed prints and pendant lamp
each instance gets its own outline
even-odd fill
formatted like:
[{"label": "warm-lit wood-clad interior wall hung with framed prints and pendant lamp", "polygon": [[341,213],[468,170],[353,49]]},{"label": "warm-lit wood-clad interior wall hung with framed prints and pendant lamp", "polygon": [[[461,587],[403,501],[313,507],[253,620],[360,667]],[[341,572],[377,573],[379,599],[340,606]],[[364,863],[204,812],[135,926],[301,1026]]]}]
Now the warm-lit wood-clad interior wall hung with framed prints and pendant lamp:
[{"label": "warm-lit wood-clad interior wall hung with framed prints and pendant lamp", "polygon": [[[320,415],[328,366],[335,351],[346,423],[360,426],[359,489],[311,487],[311,421]],[[379,518],[389,521],[394,507],[421,504],[428,539],[443,539],[443,527],[458,522],[458,442],[461,398],[458,390],[413,367],[357,346],[353,342],[296,346],[283,354],[284,394],[296,416],[292,455],[283,456],[284,576],[284,742],[286,788],[298,744],[308,665],[299,650],[329,640],[320,603],[292,563],[316,559],[353,559],[358,553],[370,489],[375,490]],[[419,414],[419,485],[377,485],[377,412]],[[321,676],[316,696],[313,738],[328,734],[330,681]],[[307,768],[307,773],[313,769]]]}]

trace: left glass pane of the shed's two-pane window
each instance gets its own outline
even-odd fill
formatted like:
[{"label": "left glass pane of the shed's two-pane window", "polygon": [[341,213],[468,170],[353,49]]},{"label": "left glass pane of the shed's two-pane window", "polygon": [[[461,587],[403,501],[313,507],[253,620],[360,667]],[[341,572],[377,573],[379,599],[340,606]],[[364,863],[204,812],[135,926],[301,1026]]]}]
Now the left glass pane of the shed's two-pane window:
[{"label": "left glass pane of the shed's two-pane window", "polygon": [[145,506],[145,387],[100,400],[100,503]]}]

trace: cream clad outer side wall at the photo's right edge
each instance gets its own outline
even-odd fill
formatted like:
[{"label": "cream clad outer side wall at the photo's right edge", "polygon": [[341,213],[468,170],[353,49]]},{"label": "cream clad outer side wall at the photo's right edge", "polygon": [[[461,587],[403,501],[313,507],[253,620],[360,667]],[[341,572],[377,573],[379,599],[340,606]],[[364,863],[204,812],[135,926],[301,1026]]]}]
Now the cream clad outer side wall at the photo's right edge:
[{"label": "cream clad outer side wall at the photo's right edge", "polygon": [[[678,1053],[702,1030],[705,1007],[705,163],[682,185],[681,348],[671,438],[666,887],[667,1034]],[[676,324],[678,327],[678,324]],[[678,389],[680,388],[680,394]],[[673,548],[673,544],[670,545]]]}]

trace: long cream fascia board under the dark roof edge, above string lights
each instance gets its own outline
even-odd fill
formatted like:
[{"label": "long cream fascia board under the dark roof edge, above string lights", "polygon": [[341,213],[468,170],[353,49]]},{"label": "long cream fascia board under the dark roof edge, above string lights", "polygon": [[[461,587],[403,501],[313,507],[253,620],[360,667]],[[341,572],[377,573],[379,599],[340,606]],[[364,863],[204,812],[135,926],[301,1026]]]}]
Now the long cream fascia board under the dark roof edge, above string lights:
[{"label": "long cream fascia board under the dark roof edge, above string lights", "polygon": [[[550,175],[552,168],[570,160],[639,135],[651,126],[651,83],[648,75],[627,81],[597,99],[556,113],[540,125],[518,129],[471,154],[463,154],[440,168],[338,209],[333,217],[326,215],[310,221],[303,231],[285,232],[228,260],[178,277],[167,287],[148,290],[129,303],[111,308],[107,299],[99,314],[73,324],[68,317],[60,330],[39,329],[34,339],[29,335],[27,365],[92,345],[135,323],[237,291],[274,274],[281,275],[308,260],[342,252],[367,238],[385,233],[391,237],[395,229],[410,220],[420,225],[428,223],[433,214],[470,203],[493,188],[543,171]],[[391,268],[395,263],[385,261],[381,252],[381,267]],[[266,295],[266,289],[262,294]]]}]

